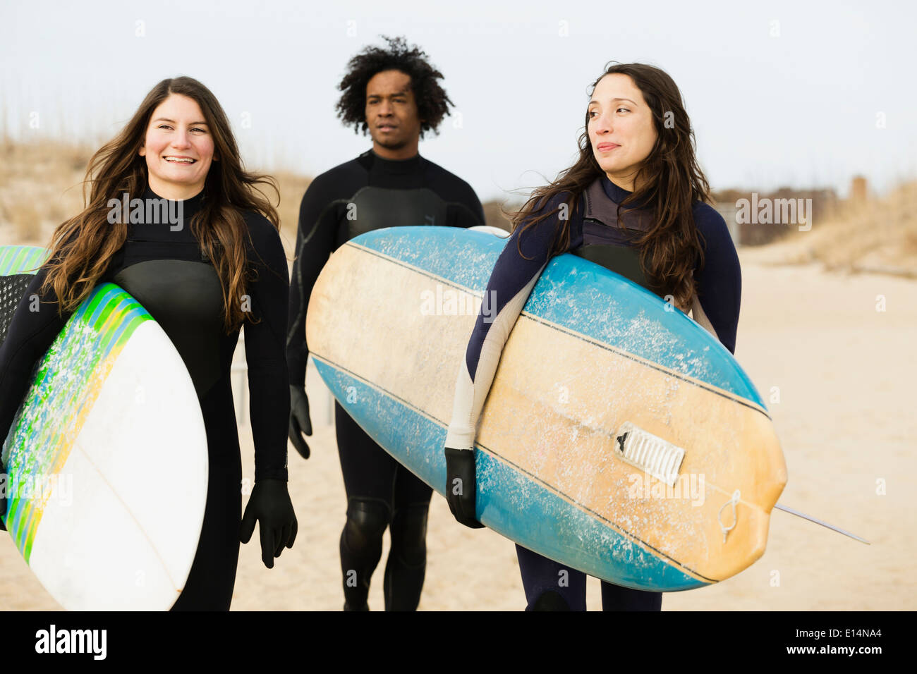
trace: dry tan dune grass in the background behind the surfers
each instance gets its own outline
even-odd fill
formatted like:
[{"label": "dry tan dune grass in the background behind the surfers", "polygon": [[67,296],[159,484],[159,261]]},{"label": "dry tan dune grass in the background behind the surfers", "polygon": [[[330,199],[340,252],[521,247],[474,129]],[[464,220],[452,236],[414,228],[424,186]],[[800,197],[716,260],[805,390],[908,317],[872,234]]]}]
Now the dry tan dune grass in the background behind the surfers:
[{"label": "dry tan dune grass in the background behind the surfers", "polygon": [[[83,207],[83,176],[94,149],[49,139],[26,143],[0,138],[0,245],[48,245],[54,227]],[[260,171],[277,181],[279,204],[272,190],[265,193],[278,210],[281,238],[292,258],[299,204],[310,178],[291,171]],[[509,229],[500,205],[484,204],[487,224]],[[848,200],[818,227],[790,231],[778,242],[750,251],[749,259],[766,264],[817,261],[828,270],[917,278],[915,213],[917,182],[905,182],[882,198]]]}]

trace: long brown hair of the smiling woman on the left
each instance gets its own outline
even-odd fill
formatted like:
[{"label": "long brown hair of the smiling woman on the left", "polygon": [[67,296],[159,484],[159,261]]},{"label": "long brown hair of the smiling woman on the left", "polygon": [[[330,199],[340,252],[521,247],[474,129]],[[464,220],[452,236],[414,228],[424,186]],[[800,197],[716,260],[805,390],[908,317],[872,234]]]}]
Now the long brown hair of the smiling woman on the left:
[{"label": "long brown hair of the smiling woman on the left", "polygon": [[[236,138],[223,107],[204,84],[191,77],[162,80],[147,94],[127,126],[105,143],[89,160],[83,181],[83,212],[61,223],[51,238],[48,276],[42,292],[54,288],[61,311],[75,309],[105,273],[109,260],[127,239],[127,214],[115,224],[108,222],[109,199],[131,198],[147,186],[147,163],[138,155],[146,138],[149,119],[171,94],[193,99],[204,113],[214,137],[214,157],[204,182],[204,204],[191,221],[191,231],[201,250],[213,262],[223,286],[226,331],[246,318],[241,298],[246,289],[248,255],[245,237],[248,227],[242,210],[260,212],[280,229],[280,218],[271,201],[257,185],[269,184],[271,176],[242,168]],[[278,193],[279,198],[279,193]],[[232,298],[234,301],[230,301]]]}]

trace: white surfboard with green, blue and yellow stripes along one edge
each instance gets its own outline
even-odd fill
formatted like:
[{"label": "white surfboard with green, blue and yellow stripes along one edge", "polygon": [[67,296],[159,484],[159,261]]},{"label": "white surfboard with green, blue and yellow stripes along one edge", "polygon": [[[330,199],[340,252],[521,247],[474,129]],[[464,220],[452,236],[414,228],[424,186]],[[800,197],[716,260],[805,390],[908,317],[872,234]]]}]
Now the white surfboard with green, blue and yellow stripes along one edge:
[{"label": "white surfboard with green, blue and yellow stripes along one edge", "polygon": [[[0,247],[0,340],[46,256]],[[124,290],[96,287],[39,360],[3,459],[6,529],[64,608],[171,607],[204,521],[204,419],[181,356]]]}]

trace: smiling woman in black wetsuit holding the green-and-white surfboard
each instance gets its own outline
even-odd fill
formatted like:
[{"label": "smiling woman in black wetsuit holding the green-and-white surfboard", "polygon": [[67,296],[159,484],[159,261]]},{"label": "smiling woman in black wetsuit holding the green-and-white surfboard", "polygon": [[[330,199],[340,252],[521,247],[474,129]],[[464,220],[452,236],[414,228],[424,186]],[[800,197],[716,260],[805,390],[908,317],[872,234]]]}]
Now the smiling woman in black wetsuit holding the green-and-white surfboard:
[{"label": "smiling woman in black wetsuit holding the green-and-white surfboard", "polygon": [[[296,536],[286,487],[289,281],[278,215],[260,184],[273,186],[268,176],[243,169],[214,94],[190,77],[161,81],[90,160],[83,212],[55,230],[50,259],[0,347],[6,437],[36,361],[95,285],[124,288],[171,338],[201,404],[209,459],[204,525],[174,610],[229,609],[239,541],[248,542],[256,520],[269,569]],[[41,298],[38,312],[29,311],[33,295]],[[243,326],[255,442],[255,485],[244,519],[229,379]],[[168,475],[175,467],[162,470]]]}]

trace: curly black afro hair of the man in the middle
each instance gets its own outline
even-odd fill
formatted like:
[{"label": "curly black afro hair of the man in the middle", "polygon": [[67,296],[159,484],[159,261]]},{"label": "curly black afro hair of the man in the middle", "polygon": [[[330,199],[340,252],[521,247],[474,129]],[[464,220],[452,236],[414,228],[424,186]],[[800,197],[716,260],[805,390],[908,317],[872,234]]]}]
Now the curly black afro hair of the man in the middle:
[{"label": "curly black afro hair of the man in the middle", "polygon": [[443,78],[432,65],[426,62],[427,56],[416,45],[408,47],[403,38],[387,38],[388,50],[379,47],[367,47],[348,62],[348,72],[337,85],[344,94],[337,101],[337,116],[345,126],[353,125],[353,132],[362,130],[365,134],[369,128],[366,124],[366,85],[374,75],[382,71],[401,71],[411,78],[411,89],[417,102],[417,116],[424,120],[420,124],[420,137],[425,131],[436,130],[443,117],[449,114],[449,100],[446,91],[437,80]]}]

